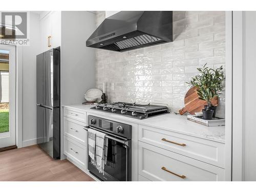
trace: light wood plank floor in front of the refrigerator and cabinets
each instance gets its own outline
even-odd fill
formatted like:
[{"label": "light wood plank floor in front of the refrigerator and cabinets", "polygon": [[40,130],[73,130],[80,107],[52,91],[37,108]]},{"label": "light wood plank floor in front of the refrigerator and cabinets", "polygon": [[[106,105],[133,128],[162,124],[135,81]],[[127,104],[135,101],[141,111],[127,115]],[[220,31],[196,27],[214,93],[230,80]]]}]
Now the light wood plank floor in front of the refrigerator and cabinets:
[{"label": "light wood plank floor in front of the refrigerator and cabinets", "polygon": [[54,160],[37,145],[0,152],[0,181],[94,181],[68,160]]}]

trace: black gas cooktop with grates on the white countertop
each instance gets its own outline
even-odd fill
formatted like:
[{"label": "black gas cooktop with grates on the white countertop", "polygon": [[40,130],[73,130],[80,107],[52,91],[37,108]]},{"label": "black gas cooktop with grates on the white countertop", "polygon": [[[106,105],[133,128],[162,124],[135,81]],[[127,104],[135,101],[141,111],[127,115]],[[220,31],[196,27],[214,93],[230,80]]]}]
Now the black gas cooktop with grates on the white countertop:
[{"label": "black gas cooktop with grates on the white countertop", "polygon": [[154,105],[154,104],[137,104],[137,103],[125,103],[114,102],[97,104],[93,110],[103,111],[106,113],[113,113],[117,115],[123,115],[136,119],[145,119],[148,117],[154,117],[169,113],[167,106]]}]

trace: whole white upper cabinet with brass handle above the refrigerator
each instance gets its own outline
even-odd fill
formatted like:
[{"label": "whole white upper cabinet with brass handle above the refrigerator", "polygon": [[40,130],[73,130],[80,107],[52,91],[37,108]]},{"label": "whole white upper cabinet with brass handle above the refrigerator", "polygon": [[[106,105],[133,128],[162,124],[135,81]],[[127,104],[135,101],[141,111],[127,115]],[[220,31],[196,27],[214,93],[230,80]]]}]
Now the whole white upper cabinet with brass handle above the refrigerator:
[{"label": "whole white upper cabinet with brass handle above the refrigerator", "polygon": [[60,46],[60,11],[42,13],[40,19],[41,52]]}]

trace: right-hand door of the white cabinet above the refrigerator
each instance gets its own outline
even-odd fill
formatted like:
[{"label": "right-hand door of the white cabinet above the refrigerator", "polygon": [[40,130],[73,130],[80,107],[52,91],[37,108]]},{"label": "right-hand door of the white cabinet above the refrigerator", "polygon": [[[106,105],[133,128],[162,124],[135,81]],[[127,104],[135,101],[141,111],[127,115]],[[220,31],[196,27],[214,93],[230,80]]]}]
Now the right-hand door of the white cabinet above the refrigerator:
[{"label": "right-hand door of the white cabinet above the refrigerator", "polygon": [[57,48],[60,46],[60,11],[53,11],[51,14],[52,17],[52,35],[51,35],[51,43],[52,48]]}]

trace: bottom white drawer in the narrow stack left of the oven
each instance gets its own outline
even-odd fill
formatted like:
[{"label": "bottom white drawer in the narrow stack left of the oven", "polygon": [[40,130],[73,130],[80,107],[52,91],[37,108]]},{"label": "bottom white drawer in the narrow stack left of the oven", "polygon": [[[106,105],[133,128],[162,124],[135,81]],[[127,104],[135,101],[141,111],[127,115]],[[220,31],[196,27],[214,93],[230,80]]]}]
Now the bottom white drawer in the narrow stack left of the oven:
[{"label": "bottom white drawer in the narrow stack left of the oven", "polygon": [[82,167],[86,166],[86,147],[64,136],[64,154]]}]

